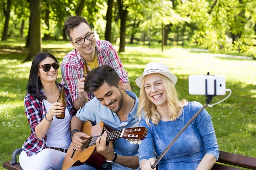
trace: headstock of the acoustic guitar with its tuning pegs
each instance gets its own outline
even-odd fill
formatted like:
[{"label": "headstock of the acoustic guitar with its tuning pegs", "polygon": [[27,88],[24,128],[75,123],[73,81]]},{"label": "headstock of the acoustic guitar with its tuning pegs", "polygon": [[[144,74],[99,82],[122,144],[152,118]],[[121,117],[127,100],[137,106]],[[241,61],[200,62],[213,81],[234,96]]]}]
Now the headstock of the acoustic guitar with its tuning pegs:
[{"label": "headstock of the acoustic guitar with its tuning pegs", "polygon": [[147,134],[148,129],[145,127],[132,127],[124,129],[121,137],[130,141],[131,144],[140,144],[141,140],[145,139]]}]

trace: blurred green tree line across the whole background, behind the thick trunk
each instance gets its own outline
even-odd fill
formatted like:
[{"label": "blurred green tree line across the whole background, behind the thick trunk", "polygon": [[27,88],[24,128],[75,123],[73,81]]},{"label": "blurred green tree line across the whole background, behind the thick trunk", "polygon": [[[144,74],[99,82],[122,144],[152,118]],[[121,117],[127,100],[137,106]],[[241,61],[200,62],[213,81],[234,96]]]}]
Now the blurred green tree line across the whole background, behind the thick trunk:
[{"label": "blurred green tree line across the whole background, behind the thick trunk", "polygon": [[[29,1],[0,3],[2,40],[27,38],[29,42],[29,28],[34,23],[29,21]],[[40,14],[37,34],[44,39],[67,40],[63,31],[66,17],[82,15],[101,39],[119,43],[120,52],[126,43],[150,46],[152,41],[164,45],[188,41],[213,52],[248,52],[256,45],[254,0],[42,0]]]}]

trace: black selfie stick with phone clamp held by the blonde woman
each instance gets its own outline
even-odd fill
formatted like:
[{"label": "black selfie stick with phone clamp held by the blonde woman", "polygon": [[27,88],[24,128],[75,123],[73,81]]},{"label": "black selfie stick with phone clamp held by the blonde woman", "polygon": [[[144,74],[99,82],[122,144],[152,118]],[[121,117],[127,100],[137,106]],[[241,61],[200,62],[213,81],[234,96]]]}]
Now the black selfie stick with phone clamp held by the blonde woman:
[{"label": "black selfie stick with phone clamp held by the blonde woman", "polygon": [[[207,73],[207,75],[209,75],[209,72]],[[151,165],[151,168],[154,169],[157,166],[157,163],[164,157],[164,155],[166,154],[166,152],[171,148],[171,146],[173,145],[173,143],[177,140],[177,138],[182,134],[182,132],[187,128],[187,126],[189,126],[189,124],[191,124],[191,122],[199,115],[199,113],[205,108],[207,107],[207,105],[211,102],[213,96],[216,96],[216,80],[214,80],[214,95],[208,95],[207,93],[207,79],[205,79],[205,96],[207,97],[206,99],[206,103],[203,105],[203,107],[197,112],[195,113],[195,115],[189,120],[189,122],[187,122],[185,124],[185,126],[180,130],[180,132],[176,135],[176,137],[173,139],[173,141],[166,147],[166,149],[164,150],[163,153],[161,153],[161,155],[159,155],[159,157],[157,158],[157,160],[155,161],[155,163],[153,165]]]}]

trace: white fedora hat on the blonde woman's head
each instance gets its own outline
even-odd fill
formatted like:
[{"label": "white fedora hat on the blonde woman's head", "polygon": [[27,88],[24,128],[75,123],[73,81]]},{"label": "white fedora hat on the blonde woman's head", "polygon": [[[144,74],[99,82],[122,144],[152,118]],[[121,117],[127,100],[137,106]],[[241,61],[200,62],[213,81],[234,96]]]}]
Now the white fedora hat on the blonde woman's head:
[{"label": "white fedora hat on the blonde woman's head", "polygon": [[142,76],[139,76],[135,80],[135,83],[137,84],[137,86],[141,88],[142,80],[144,76],[152,73],[163,74],[164,76],[168,77],[171,80],[171,82],[173,82],[174,85],[177,83],[178,78],[170,72],[167,65],[164,65],[162,63],[157,63],[157,62],[151,62],[146,65]]}]

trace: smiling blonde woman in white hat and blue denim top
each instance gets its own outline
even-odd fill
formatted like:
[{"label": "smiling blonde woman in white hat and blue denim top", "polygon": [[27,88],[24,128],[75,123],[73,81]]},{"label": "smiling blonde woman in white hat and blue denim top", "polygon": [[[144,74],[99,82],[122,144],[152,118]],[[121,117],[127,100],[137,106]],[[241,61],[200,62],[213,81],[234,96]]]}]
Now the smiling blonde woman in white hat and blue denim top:
[{"label": "smiling blonde woman in white hat and blue denim top", "polygon": [[[148,128],[139,146],[141,170],[151,170],[159,155],[202,108],[199,102],[178,99],[177,77],[162,63],[148,63],[136,79],[140,89],[139,126]],[[219,157],[211,116],[203,109],[158,163],[158,170],[210,170]]]}]

